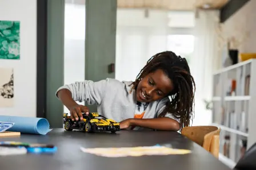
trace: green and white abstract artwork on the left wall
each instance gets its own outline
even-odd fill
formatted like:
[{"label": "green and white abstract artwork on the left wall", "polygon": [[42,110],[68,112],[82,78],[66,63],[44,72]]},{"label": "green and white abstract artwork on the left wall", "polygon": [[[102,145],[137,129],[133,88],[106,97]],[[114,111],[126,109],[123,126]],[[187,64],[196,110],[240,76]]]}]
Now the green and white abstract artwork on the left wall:
[{"label": "green and white abstract artwork on the left wall", "polygon": [[0,20],[0,59],[19,60],[19,21]]}]

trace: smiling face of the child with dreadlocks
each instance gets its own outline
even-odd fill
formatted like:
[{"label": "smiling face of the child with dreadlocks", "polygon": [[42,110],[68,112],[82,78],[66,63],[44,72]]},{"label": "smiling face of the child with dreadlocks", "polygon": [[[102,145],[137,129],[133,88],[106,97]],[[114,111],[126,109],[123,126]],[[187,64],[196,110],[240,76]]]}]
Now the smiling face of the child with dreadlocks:
[{"label": "smiling face of the child with dreadlocks", "polygon": [[158,69],[142,78],[137,87],[136,98],[139,102],[152,102],[166,97],[173,89],[173,82]]}]

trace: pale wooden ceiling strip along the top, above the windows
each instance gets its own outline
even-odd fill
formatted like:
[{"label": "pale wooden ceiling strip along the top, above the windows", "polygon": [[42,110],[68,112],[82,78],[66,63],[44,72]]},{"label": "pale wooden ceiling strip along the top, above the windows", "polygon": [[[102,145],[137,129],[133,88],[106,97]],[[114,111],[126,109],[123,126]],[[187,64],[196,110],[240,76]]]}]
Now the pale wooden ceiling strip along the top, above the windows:
[{"label": "pale wooden ceiling strip along the top, above the windows", "polygon": [[209,5],[209,9],[220,9],[229,0],[117,0],[119,8],[150,8],[164,10],[194,10]]}]

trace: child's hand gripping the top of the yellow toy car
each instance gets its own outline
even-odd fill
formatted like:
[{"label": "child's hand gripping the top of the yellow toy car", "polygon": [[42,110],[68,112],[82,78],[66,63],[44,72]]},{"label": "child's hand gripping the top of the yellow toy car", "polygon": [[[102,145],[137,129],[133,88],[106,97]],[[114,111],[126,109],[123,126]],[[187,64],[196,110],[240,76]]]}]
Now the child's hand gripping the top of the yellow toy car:
[{"label": "child's hand gripping the top of the yellow toy car", "polygon": [[86,106],[83,106],[83,105],[75,105],[75,106],[73,106],[73,107],[71,107],[70,109],[69,109],[69,111],[70,111],[70,117],[71,117],[71,119],[72,119],[72,121],[74,121],[74,119],[76,120],[76,121],[78,121],[79,120],[79,118],[81,119],[81,121],[83,120],[83,115],[82,115],[82,113],[85,113],[85,114],[89,114],[89,109],[88,109],[88,107],[86,107]]}]

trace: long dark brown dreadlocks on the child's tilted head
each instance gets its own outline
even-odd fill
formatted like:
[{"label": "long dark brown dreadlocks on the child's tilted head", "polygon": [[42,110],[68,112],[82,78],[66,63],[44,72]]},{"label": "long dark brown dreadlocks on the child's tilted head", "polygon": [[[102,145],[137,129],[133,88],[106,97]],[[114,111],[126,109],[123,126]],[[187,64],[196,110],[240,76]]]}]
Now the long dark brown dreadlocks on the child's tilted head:
[{"label": "long dark brown dreadlocks on the child's tilted head", "polygon": [[180,119],[182,130],[183,127],[190,126],[190,119],[193,121],[194,117],[195,82],[185,58],[171,51],[157,53],[147,61],[136,80],[131,83],[131,90],[137,89],[139,81],[157,69],[162,69],[174,84],[174,90],[169,94],[171,100],[167,101],[159,117],[164,117],[167,113],[174,114],[175,118]]}]

